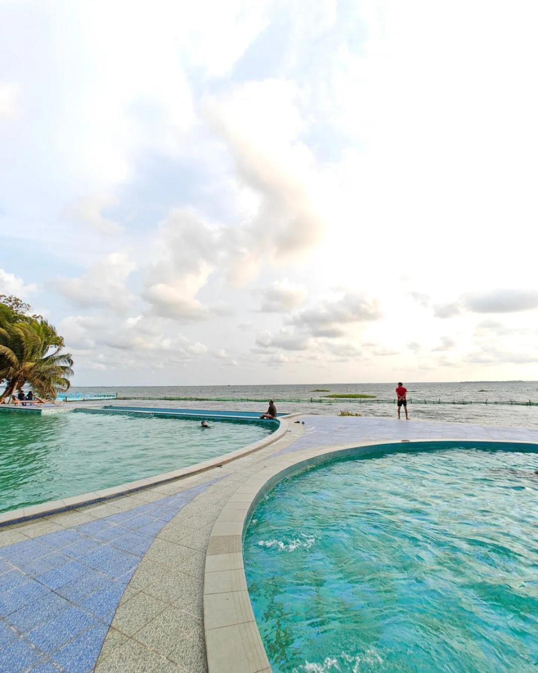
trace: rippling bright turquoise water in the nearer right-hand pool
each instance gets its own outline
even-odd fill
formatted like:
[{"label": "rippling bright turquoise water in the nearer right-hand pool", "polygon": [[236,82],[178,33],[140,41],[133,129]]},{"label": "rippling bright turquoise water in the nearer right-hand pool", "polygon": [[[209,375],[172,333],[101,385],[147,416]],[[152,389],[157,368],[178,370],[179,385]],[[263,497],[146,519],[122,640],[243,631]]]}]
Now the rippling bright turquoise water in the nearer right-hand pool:
[{"label": "rippling bright turquoise water in the nearer right-hand pool", "polygon": [[258,504],[243,553],[274,671],[536,671],[538,454],[334,460]]}]

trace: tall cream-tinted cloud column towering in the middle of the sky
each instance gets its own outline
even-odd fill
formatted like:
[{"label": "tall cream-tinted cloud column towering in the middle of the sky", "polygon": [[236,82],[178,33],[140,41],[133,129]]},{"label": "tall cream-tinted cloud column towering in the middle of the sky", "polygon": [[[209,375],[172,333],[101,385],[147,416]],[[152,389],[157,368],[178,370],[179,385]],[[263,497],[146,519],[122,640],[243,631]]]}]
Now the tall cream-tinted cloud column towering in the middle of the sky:
[{"label": "tall cream-tinted cloud column towering in the middle of the sky", "polygon": [[266,79],[206,98],[206,118],[235,161],[239,184],[258,199],[252,217],[237,232],[242,254],[232,278],[244,283],[262,262],[303,256],[319,242],[325,221],[313,201],[315,160],[299,141],[304,122],[291,81]]}]

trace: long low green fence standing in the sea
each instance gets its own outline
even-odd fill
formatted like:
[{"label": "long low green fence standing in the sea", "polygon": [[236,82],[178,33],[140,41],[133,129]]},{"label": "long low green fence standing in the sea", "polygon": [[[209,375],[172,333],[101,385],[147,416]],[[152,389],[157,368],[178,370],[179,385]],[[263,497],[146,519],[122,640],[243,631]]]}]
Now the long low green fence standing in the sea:
[{"label": "long low green fence standing in the sea", "polygon": [[[267,404],[267,398],[254,399],[247,397],[118,397],[117,400],[168,400],[171,402],[258,402],[260,404]],[[88,398],[86,398],[88,399]],[[538,406],[538,402],[531,400],[441,400],[434,399],[419,399],[407,398],[410,404],[512,404],[516,406]],[[340,404],[342,402],[358,402],[358,404],[396,404],[396,398],[390,400],[380,400],[379,398],[354,398],[354,397],[338,397],[338,398],[323,398],[311,397],[307,399],[298,398],[274,398],[276,404],[279,402],[298,402],[307,404]]]}]

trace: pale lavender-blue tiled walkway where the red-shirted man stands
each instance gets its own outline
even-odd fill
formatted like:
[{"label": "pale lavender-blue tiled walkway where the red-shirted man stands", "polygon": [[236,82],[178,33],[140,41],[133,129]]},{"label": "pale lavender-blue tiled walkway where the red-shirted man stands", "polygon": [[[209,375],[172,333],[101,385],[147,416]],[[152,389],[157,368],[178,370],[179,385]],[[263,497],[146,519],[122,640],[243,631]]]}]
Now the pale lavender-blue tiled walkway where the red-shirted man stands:
[{"label": "pale lavender-blue tiled walkway where the red-shirted man stands", "polygon": [[500,439],[533,441],[538,444],[538,431],[524,428],[340,416],[302,416],[301,421],[305,421],[304,435],[290,446],[273,454],[272,458],[303,449],[352,444],[354,441],[360,443],[369,439],[373,441],[383,439],[484,439],[486,441]]}]

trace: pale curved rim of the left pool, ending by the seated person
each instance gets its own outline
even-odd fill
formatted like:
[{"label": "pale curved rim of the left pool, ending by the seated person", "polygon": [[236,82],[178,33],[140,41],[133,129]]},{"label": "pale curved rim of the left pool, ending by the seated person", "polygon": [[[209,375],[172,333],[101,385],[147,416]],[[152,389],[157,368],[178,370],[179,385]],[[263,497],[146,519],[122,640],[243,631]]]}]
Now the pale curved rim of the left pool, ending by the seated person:
[{"label": "pale curved rim of the left pool, ending by the seated person", "polygon": [[[291,417],[291,415],[289,417]],[[278,439],[286,434],[288,431],[288,423],[285,418],[279,417],[276,421],[278,422],[278,427],[268,437],[262,437],[262,439],[254,442],[254,444],[249,444],[227,454],[221,454],[220,456],[215,456],[215,458],[210,458],[209,460],[204,460],[203,462],[195,463],[180,468],[179,470],[161,472],[161,474],[155,474],[154,476],[149,476],[145,479],[137,479],[107,489],[100,489],[99,491],[90,491],[89,493],[83,493],[81,495],[52,500],[46,503],[41,503],[40,505],[30,505],[30,507],[21,507],[20,509],[11,509],[10,511],[0,512],[0,530],[4,526],[10,526],[11,524],[20,524],[28,520],[50,516],[51,514],[57,514],[75,507],[93,505],[94,503],[106,501],[114,497],[135,493],[136,491],[140,491],[147,487],[169,483],[186,476],[206,472],[206,470],[225,465],[232,460],[237,460],[237,458],[243,458],[243,456],[247,456],[266,446],[270,446],[270,444],[274,444],[275,441],[278,441]]]}]

